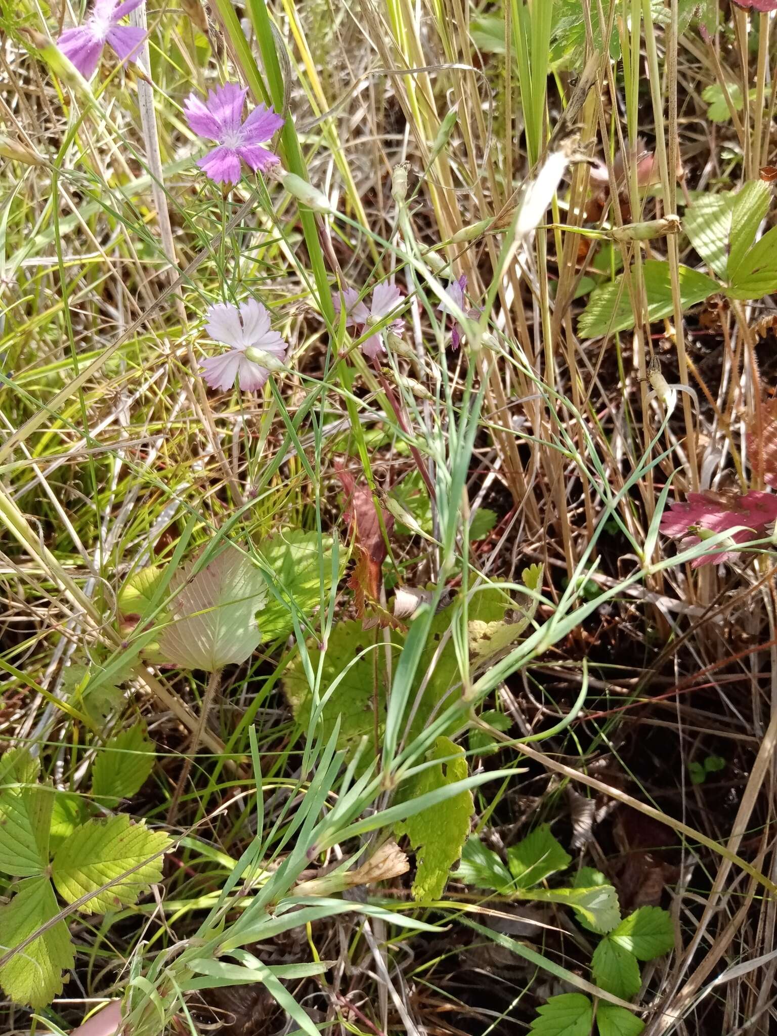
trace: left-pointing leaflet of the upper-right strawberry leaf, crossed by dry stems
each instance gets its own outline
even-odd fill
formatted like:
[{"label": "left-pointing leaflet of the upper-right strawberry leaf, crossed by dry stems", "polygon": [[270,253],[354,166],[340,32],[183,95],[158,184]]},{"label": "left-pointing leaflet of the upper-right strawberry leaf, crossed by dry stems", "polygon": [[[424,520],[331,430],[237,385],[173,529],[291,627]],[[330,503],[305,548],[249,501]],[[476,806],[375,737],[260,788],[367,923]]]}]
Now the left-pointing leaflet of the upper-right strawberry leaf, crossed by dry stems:
[{"label": "left-pointing leaflet of the upper-right strawberry leaf, crossed by dry stems", "polygon": [[[668,262],[650,259],[642,268],[649,320],[654,322],[670,316],[674,311],[674,304]],[[600,338],[618,330],[629,330],[634,326],[634,309],[624,283],[624,276],[620,274],[611,284],[602,285],[592,292],[578,322],[578,333],[582,338]],[[679,267],[678,280],[683,311],[720,291],[717,281],[689,266]]]}]

